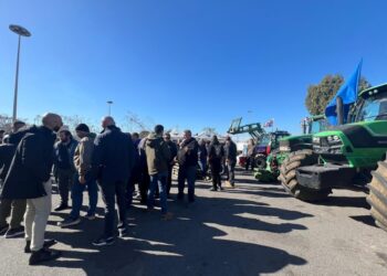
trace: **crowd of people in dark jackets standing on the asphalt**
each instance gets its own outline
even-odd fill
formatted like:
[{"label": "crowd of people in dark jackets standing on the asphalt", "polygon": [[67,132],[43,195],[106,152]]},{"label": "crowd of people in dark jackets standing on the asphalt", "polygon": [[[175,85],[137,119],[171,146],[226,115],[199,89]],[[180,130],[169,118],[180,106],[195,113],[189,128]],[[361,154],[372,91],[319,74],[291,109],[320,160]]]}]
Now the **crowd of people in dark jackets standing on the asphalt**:
[{"label": "crowd of people in dark jackets standing on the asphalt", "polygon": [[73,137],[61,116],[50,113],[43,116],[41,126],[27,126],[17,120],[11,132],[0,131],[0,235],[24,236],[24,252],[31,254],[30,265],[61,255],[50,250],[56,241],[44,238],[52,211],[53,182],[57,183],[60,195],[60,204],[53,211],[70,210],[57,223],[59,227],[81,223],[85,190],[88,209],[84,219],[94,220],[101,191],[105,224],[101,236],[93,242],[95,246],[112,245],[116,233],[128,234],[127,210],[133,199],[151,211],[158,198],[161,219],[171,220],[168,198],[171,198],[172,169],[177,164],[176,199],[179,201],[185,200],[187,183],[188,202],[195,202],[198,168],[205,179],[211,179],[211,191],[222,189],[222,172],[230,185],[234,185],[237,146],[230,137],[223,144],[217,136],[211,141],[197,141],[190,130],[185,130],[184,139],[172,141],[164,127],[157,125],[147,137],[140,138],[137,132],[123,132],[109,116],[103,118],[102,128],[103,131],[95,135],[87,125],[80,124]]}]

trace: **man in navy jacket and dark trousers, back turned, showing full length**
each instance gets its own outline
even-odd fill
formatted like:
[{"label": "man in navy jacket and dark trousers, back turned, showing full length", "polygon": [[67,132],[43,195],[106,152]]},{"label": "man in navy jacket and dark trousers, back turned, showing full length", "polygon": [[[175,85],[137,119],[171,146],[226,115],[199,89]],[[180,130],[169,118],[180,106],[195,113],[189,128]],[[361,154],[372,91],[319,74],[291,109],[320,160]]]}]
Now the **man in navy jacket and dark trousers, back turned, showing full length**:
[{"label": "man in navy jacket and dark trousers, back turned, showing full length", "polygon": [[93,242],[95,246],[114,243],[115,198],[118,204],[118,231],[127,234],[126,222],[126,183],[134,166],[134,145],[132,138],[115,126],[112,117],[102,121],[103,132],[94,141],[92,168],[101,185],[105,208],[104,234]]}]

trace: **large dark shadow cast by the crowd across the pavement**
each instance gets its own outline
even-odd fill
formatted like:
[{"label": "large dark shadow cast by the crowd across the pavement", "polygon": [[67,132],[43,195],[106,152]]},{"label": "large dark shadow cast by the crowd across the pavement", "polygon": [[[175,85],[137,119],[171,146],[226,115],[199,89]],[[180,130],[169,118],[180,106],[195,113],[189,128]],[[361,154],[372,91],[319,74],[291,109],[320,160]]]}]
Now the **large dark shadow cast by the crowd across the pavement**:
[{"label": "large dark shadow cast by the crowd across the pavement", "polygon": [[[243,236],[245,231],[272,234],[306,230],[286,221],[311,214],[271,208],[250,200],[198,198],[190,205],[170,202],[171,221],[161,221],[159,212],[129,211],[129,237],[117,238],[112,246],[98,248],[91,243],[103,231],[103,220],[84,221],[77,232],[48,232],[48,237],[73,247],[52,267],[82,268],[87,275],[259,275],[275,273],[287,265],[306,261],[283,250],[260,244]],[[56,214],[57,215],[57,214]],[[62,216],[62,214],[60,214]],[[284,222],[263,221],[279,217]],[[242,231],[243,230],[243,231]],[[249,232],[250,233],[250,232]],[[251,235],[251,233],[250,233]]]}]

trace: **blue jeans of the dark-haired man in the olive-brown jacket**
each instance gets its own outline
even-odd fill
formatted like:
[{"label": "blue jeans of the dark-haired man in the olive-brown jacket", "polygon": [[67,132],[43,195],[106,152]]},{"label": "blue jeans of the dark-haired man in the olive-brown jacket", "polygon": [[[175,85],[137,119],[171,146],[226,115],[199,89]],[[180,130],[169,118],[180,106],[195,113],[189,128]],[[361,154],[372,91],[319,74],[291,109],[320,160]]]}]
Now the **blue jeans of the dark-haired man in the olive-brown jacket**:
[{"label": "blue jeans of the dark-haired man in the olive-brown jacket", "polygon": [[158,190],[160,192],[160,206],[163,214],[167,213],[167,171],[150,176],[150,183],[148,190],[147,205],[148,208],[153,208],[155,204],[155,192],[158,187]]}]

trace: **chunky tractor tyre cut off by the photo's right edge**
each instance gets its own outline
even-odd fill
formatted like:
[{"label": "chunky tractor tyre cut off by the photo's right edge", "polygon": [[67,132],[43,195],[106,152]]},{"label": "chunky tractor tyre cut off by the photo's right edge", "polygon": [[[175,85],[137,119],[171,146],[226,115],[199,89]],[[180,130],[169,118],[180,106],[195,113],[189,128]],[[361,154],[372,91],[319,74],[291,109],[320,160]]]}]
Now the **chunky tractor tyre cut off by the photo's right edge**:
[{"label": "chunky tractor tyre cut off by the photo's right edge", "polygon": [[373,180],[368,184],[367,202],[370,205],[370,215],[376,225],[387,231],[387,160],[379,161],[378,168],[372,172]]}]

